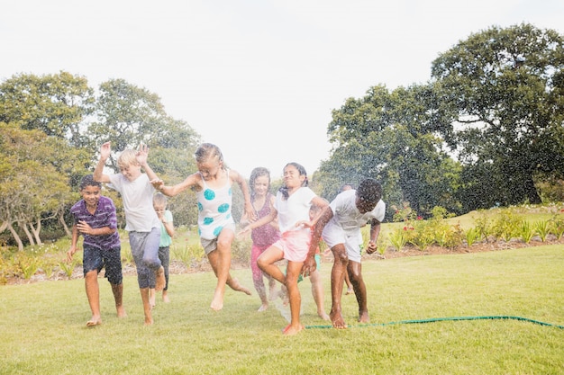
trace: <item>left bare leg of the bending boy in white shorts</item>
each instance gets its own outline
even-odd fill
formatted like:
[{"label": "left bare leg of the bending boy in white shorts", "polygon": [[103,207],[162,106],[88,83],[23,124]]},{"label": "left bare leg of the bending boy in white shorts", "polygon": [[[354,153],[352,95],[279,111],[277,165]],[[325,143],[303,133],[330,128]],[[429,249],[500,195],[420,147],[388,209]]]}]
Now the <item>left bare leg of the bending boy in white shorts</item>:
[{"label": "left bare leg of the bending boy in white shorts", "polygon": [[347,250],[344,244],[337,244],[332,247],[333,253],[333,266],[331,271],[331,312],[329,317],[331,317],[332,325],[335,328],[346,328],[347,324],[342,318],[341,313],[341,295],[342,295],[342,284],[345,279],[345,272],[347,272],[347,263],[349,263],[349,257],[347,256]]}]

